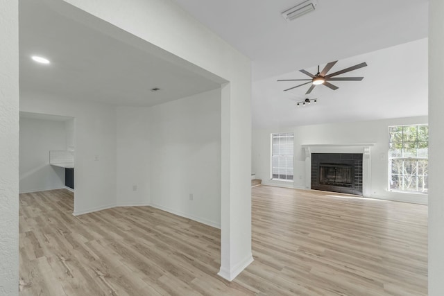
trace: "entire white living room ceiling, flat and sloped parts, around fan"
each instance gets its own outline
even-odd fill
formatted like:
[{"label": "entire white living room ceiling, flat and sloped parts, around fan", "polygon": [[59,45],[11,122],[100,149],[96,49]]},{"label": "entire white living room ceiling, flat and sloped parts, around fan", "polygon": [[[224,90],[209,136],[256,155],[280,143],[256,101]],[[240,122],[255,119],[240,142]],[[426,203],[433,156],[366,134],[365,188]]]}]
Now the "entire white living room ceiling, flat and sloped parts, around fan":
[{"label": "entire white living room ceiling, flat and sloped parts, around fan", "polygon": [[[300,0],[174,1],[253,61],[253,128],[427,115],[428,0],[318,0],[291,22],[281,12]],[[276,82],[333,60],[331,71],[367,62],[342,75],[364,80],[316,87],[305,110],[308,87]]]}]

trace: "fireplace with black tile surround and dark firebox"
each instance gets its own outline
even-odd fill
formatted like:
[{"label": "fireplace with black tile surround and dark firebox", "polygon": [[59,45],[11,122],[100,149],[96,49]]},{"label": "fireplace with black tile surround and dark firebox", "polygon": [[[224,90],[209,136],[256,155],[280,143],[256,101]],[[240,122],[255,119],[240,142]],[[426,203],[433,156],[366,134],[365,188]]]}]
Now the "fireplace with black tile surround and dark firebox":
[{"label": "fireplace with black tile surround and dark firebox", "polygon": [[362,153],[312,153],[311,189],[362,195]]}]

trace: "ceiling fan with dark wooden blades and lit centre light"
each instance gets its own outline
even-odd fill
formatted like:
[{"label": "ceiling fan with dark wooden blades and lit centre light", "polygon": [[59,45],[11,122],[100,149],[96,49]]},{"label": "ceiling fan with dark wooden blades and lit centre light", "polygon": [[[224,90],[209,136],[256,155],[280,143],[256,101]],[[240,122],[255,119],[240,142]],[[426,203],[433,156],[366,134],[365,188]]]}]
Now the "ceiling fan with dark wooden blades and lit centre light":
[{"label": "ceiling fan with dark wooden blades and lit centre light", "polygon": [[[347,73],[347,72],[350,72],[350,71],[353,71],[353,70],[356,70],[356,69],[359,69],[362,67],[366,67],[367,66],[366,62],[361,62],[361,64],[355,64],[355,66],[348,67],[348,68],[345,68],[341,71],[337,71],[337,72],[327,75],[327,72],[330,71],[330,69],[332,69],[332,67],[334,66],[334,64],[336,64],[336,62],[338,62],[338,61],[336,60],[334,62],[329,62],[328,64],[325,65],[324,69],[321,72],[319,72],[319,66],[318,66],[318,73],[316,73],[315,75],[313,75],[303,69],[299,70],[300,72],[304,73],[305,75],[310,76],[311,79],[282,79],[282,80],[278,80],[278,81],[307,81],[307,80],[309,80],[309,82],[302,83],[302,85],[308,85],[309,83],[311,83],[310,88],[305,93],[305,94],[309,94],[314,89],[314,87],[316,87],[316,85],[325,85],[326,87],[330,87],[333,90],[336,90],[339,88],[339,87],[336,87],[336,85],[332,85],[328,81],[361,81],[362,79],[364,79],[364,77],[334,77],[334,76],[338,76],[343,73]],[[296,87],[301,87],[302,85],[296,85]],[[287,92],[287,90],[294,89],[296,87],[290,87],[289,89],[284,89],[284,92]]]}]

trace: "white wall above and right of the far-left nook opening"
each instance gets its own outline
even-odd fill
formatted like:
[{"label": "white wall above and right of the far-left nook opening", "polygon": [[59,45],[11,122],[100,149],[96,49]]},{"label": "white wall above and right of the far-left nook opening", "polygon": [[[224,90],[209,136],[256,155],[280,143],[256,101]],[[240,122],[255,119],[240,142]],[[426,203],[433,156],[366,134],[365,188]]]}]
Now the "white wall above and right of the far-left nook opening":
[{"label": "white wall above and right of the far-left nook opening", "polygon": [[116,109],[22,92],[20,110],[74,117],[74,214],[116,205]]}]

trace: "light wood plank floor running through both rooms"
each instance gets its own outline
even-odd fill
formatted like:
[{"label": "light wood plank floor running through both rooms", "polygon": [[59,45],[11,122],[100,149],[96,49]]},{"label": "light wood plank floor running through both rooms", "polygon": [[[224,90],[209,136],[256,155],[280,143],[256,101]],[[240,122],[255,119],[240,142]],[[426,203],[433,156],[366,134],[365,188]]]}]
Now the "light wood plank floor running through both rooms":
[{"label": "light wood plank floor running through both rooms", "polygon": [[20,195],[20,295],[427,295],[427,207],[257,186],[255,261],[218,277],[220,232],[152,207],[72,216]]}]

